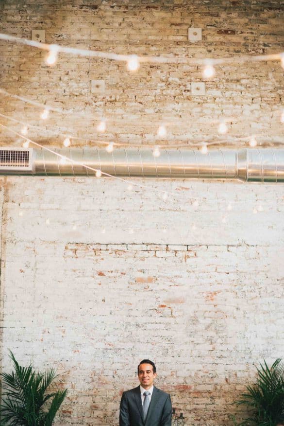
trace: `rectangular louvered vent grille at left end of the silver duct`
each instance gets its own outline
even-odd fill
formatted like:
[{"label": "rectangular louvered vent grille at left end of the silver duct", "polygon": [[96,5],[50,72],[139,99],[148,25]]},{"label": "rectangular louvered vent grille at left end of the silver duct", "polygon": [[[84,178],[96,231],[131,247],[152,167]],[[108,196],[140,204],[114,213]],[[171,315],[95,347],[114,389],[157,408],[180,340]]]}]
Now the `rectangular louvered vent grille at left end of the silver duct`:
[{"label": "rectangular louvered vent grille at left end of the silver duct", "polygon": [[33,172],[33,148],[0,148],[0,171]]}]

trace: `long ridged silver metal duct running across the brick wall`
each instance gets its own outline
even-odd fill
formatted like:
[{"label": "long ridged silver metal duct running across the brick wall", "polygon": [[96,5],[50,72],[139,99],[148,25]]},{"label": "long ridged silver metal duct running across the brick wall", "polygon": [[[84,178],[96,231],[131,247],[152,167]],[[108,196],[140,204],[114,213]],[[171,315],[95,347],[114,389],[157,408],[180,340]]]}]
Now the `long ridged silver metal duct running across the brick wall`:
[{"label": "long ridged silver metal duct running across the brick wall", "polygon": [[[24,149],[3,148],[3,150],[10,152]],[[25,170],[24,167],[11,167],[11,161],[10,166],[8,163],[5,166],[0,162],[0,174],[95,176],[96,170],[101,170],[102,174],[119,177],[284,182],[283,149],[210,150],[207,154],[190,149],[162,149],[159,157],[154,157],[149,148],[115,149],[110,153],[103,148],[54,149],[60,156],[44,148],[29,148],[26,151],[29,151],[32,164],[29,170]],[[65,164],[61,164],[61,156],[67,158]]]}]

